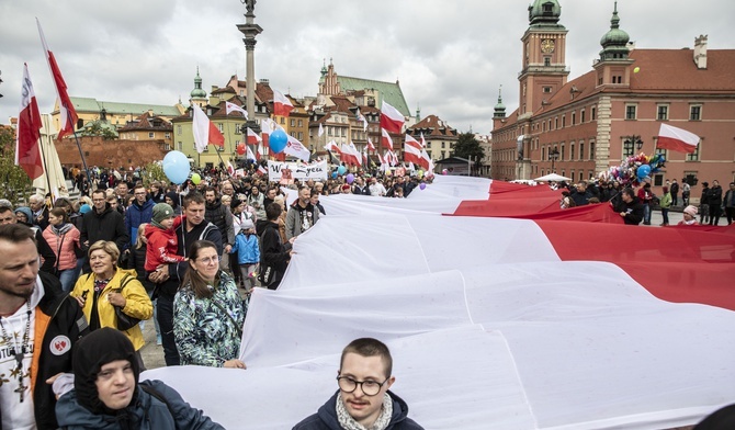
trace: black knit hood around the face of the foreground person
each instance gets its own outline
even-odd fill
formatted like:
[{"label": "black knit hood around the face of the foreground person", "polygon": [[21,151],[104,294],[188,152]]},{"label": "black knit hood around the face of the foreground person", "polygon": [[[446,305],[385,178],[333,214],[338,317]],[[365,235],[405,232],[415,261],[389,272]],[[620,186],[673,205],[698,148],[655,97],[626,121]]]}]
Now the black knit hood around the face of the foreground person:
[{"label": "black knit hood around the face of the foreground person", "polygon": [[72,363],[74,387],[77,391],[79,404],[92,414],[115,414],[100,400],[100,394],[97,391],[97,375],[103,365],[116,360],[131,362],[137,386],[140,366],[133,342],[122,331],[104,327],[87,335],[76,346]]}]

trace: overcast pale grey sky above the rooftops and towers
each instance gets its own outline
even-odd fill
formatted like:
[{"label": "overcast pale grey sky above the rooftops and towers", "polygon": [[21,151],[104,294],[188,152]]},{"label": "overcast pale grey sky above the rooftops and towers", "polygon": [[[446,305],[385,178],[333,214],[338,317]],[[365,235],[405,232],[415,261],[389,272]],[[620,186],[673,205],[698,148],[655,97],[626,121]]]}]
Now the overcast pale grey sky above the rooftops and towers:
[{"label": "overcast pale grey sky above the rooftops and towers", "polygon": [[[259,0],[256,78],[294,97],[315,95],[324,59],[338,75],[400,81],[411,113],[487,134],[498,88],[518,106],[520,37],[532,1]],[[569,79],[591,69],[610,27],[612,0],[561,0]],[[735,48],[732,0],[620,0],[621,29],[640,48]],[[203,88],[245,79],[236,24],[240,0],[0,0],[0,123],[16,116],[23,63],[42,113],[56,93],[34,18],[72,97],[172,105],[186,102],[196,67]]]}]

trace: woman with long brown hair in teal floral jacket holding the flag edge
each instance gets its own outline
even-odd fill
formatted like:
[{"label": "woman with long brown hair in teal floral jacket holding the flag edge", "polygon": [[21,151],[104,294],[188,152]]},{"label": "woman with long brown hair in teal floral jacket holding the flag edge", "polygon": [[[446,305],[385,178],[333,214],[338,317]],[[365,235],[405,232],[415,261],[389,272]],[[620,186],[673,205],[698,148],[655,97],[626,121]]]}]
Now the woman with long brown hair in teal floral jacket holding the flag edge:
[{"label": "woman with long brown hair in teal floral jacket holding the flag edge", "polygon": [[189,270],[173,299],[173,336],[181,364],[245,369],[238,360],[245,307],[230,275],[219,270],[216,246],[191,245]]}]

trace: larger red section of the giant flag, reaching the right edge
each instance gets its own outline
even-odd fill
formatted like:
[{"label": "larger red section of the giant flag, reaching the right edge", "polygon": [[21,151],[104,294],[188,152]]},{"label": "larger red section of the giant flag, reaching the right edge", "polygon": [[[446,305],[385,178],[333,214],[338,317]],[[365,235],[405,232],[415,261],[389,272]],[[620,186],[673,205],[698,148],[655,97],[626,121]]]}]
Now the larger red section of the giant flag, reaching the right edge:
[{"label": "larger red section of the giant flag, reaching the right edge", "polygon": [[564,261],[608,261],[658,298],[735,310],[735,226],[691,228],[538,220]]}]

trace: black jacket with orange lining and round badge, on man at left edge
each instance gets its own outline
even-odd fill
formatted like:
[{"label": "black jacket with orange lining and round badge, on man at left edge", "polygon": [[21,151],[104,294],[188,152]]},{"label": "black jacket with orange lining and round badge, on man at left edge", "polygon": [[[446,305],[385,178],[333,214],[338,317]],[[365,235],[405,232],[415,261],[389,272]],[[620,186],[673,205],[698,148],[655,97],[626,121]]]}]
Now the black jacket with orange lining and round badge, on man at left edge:
[{"label": "black jacket with orange lining and round badge, on man at left edge", "polygon": [[[38,367],[33,388],[33,408],[36,416],[38,430],[56,429],[56,396],[46,380],[61,373],[71,372],[71,357],[74,347],[82,336],[89,332],[87,319],[76,299],[61,292],[58,279],[44,272],[38,272],[44,284],[44,296],[36,306],[36,332],[39,325],[45,325],[43,340],[35,341],[33,351],[34,360],[38,355]],[[66,348],[63,342],[70,342]],[[52,346],[52,342],[55,344]],[[52,353],[52,348],[61,342],[57,348],[66,349],[60,354]]]}]

